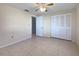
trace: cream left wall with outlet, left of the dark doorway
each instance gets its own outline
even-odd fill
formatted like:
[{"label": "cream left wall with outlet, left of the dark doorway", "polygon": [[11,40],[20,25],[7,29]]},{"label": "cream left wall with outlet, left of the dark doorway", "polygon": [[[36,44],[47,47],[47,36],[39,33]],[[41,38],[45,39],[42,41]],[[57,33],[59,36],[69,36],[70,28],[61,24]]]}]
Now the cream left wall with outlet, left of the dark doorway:
[{"label": "cream left wall with outlet, left of the dark doorway", "polygon": [[0,5],[0,47],[31,38],[31,14]]}]

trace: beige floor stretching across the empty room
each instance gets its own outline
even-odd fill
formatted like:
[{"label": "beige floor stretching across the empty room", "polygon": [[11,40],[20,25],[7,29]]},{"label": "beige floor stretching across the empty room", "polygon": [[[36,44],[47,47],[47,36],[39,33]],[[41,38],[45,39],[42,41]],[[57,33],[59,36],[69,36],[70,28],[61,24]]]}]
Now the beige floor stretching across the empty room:
[{"label": "beige floor stretching across the empty room", "polygon": [[4,48],[0,56],[78,56],[75,43],[54,38],[33,37]]}]

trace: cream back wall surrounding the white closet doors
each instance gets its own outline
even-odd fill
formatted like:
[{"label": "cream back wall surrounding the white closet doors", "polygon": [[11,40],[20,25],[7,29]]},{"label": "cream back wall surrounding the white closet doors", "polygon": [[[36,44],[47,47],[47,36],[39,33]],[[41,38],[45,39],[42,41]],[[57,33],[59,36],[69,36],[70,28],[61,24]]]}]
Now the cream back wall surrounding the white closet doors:
[{"label": "cream back wall surrounding the white closet doors", "polygon": [[51,22],[51,16],[58,15],[58,14],[66,14],[66,13],[72,13],[72,41],[76,42],[76,9],[66,10],[66,11],[58,11],[55,13],[52,13],[51,15],[42,15],[44,17],[44,36],[50,37],[50,22]]}]

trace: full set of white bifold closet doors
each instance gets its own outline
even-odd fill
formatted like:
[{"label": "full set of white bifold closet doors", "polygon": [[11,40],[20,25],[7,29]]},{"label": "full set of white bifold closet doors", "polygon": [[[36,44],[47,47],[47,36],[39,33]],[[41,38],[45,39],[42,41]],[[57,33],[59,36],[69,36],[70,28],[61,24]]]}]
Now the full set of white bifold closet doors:
[{"label": "full set of white bifold closet doors", "polygon": [[52,16],[51,36],[71,40],[71,14]]}]

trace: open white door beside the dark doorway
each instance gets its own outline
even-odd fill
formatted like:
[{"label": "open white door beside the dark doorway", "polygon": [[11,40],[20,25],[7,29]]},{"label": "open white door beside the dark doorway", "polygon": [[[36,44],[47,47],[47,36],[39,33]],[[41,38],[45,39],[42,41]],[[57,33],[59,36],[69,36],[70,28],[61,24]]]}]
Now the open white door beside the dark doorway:
[{"label": "open white door beside the dark doorway", "polygon": [[39,16],[36,18],[36,35],[43,36],[43,17]]}]

